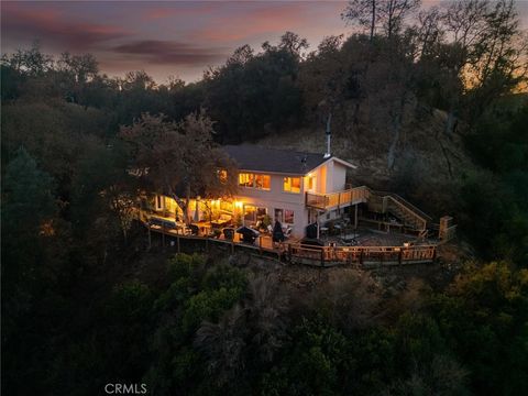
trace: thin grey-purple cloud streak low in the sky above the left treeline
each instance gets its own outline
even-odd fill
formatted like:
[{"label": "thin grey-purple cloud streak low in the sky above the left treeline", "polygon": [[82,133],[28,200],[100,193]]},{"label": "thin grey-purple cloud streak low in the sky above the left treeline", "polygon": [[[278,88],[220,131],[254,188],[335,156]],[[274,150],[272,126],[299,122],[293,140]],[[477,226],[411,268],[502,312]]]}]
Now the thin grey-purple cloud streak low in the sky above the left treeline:
[{"label": "thin grey-purple cloud streak low in the sky above the left treeline", "polygon": [[158,65],[205,66],[226,58],[224,48],[200,47],[176,41],[142,40],[114,46],[113,52],[134,55]]}]

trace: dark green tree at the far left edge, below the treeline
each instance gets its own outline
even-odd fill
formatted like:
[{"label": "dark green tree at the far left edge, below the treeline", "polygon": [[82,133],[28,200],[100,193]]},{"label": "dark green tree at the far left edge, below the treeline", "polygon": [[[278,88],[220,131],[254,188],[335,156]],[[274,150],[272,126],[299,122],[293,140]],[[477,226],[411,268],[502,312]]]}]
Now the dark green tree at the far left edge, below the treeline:
[{"label": "dark green tree at the far left edge, below the treeline", "polygon": [[[35,297],[42,297],[38,293],[48,287],[46,283],[55,280],[45,277],[53,268],[44,246],[56,231],[53,187],[52,177],[20,147],[2,179],[2,346],[13,344],[20,330],[16,324],[25,322]],[[7,355],[18,361],[14,354]]]}]

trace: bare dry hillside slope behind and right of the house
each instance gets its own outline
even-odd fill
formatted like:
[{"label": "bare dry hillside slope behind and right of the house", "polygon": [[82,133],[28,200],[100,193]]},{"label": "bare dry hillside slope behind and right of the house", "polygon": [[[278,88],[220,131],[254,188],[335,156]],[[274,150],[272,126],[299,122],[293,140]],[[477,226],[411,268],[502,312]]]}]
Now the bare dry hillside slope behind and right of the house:
[{"label": "bare dry hillside slope behind and right of the house", "polygon": [[[387,168],[391,135],[387,131],[332,133],[332,154],[358,166],[351,183],[375,189],[394,190],[414,199],[433,216],[452,210],[453,188],[460,178],[476,168],[464,150],[460,132],[444,133],[446,113],[436,110],[414,120],[402,131],[395,166]],[[299,139],[299,136],[302,136]],[[322,152],[322,127],[290,130],[256,141],[254,144],[277,148]]]}]

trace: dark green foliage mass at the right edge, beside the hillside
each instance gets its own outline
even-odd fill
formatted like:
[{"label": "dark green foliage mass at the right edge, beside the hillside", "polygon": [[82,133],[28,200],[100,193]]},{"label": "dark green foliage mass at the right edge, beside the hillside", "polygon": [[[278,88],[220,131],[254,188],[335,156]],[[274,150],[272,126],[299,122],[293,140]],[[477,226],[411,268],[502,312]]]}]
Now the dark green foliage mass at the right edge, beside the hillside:
[{"label": "dark green foliage mass at the right edge, beside the hillside", "polygon": [[524,265],[528,257],[528,106],[525,98],[510,101],[491,109],[466,139],[475,160],[488,170],[463,182],[460,220],[484,257]]}]

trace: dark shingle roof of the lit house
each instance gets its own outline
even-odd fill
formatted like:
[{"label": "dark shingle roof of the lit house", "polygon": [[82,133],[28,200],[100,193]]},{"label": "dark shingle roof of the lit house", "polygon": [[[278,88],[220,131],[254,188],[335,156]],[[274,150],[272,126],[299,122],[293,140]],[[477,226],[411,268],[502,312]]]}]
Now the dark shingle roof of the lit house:
[{"label": "dark shingle roof of the lit house", "polygon": [[223,150],[242,170],[305,175],[328,158],[323,154],[265,148],[253,145],[226,145]]}]

